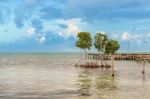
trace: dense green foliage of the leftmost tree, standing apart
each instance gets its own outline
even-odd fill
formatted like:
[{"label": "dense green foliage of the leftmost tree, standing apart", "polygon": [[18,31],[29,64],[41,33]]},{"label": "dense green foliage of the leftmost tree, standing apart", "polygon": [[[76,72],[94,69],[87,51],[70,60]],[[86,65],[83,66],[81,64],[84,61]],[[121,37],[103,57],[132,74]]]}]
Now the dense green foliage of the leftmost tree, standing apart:
[{"label": "dense green foliage of the leftmost tree, standing apart", "polygon": [[92,38],[89,32],[80,32],[77,35],[78,40],[76,46],[81,49],[90,49],[92,46]]}]

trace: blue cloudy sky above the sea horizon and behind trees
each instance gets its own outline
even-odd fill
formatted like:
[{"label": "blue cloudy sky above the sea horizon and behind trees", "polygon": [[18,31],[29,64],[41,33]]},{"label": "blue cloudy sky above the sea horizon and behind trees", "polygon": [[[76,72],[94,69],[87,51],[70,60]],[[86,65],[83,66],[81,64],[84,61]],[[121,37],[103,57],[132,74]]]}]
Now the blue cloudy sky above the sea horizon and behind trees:
[{"label": "blue cloudy sky above the sea horizon and behind trees", "polygon": [[[149,0],[0,0],[0,52],[77,52],[78,32],[150,52]],[[91,49],[95,51],[94,47]]]}]

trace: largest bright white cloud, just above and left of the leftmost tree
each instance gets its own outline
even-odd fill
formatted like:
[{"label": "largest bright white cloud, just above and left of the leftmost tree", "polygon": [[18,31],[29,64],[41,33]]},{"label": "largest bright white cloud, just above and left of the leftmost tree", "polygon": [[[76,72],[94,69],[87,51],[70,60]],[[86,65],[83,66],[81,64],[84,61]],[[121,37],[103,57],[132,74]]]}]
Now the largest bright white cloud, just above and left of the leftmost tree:
[{"label": "largest bright white cloud, just above and left of the leftmost tree", "polygon": [[76,36],[77,33],[82,30],[81,27],[84,26],[84,24],[85,23],[80,18],[44,21],[42,32],[50,31],[51,33],[57,33],[58,35],[67,38]]}]

